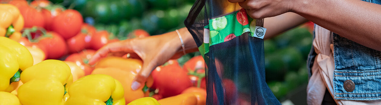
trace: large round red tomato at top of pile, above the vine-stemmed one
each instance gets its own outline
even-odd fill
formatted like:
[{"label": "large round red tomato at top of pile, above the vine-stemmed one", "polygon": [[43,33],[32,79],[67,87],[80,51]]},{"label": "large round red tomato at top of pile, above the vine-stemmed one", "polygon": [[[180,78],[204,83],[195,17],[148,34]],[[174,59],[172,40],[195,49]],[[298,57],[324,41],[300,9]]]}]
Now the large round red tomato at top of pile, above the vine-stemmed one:
[{"label": "large round red tomato at top of pile, above the vine-stemmed one", "polygon": [[78,34],[82,24],[82,15],[77,10],[67,9],[53,19],[52,28],[64,39],[69,39]]}]

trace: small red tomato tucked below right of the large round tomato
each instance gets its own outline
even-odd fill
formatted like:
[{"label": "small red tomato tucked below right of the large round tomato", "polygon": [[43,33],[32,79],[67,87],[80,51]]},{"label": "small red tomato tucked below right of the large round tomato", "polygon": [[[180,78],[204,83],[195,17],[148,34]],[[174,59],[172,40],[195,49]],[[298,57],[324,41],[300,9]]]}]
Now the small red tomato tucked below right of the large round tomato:
[{"label": "small red tomato tucked below right of the large round tomato", "polygon": [[69,49],[69,53],[78,53],[85,49],[85,37],[87,35],[83,33],[79,33],[74,37],[66,40],[67,48]]}]

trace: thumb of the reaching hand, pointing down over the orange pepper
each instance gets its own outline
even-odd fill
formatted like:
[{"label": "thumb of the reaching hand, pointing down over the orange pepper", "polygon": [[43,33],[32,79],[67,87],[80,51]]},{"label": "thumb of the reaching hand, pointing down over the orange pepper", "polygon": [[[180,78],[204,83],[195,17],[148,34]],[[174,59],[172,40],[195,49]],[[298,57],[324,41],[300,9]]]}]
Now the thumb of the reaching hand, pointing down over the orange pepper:
[{"label": "thumb of the reaching hand, pointing down over the orange pepper", "polygon": [[142,69],[138,72],[138,74],[136,74],[134,80],[132,81],[132,90],[138,90],[141,86],[144,85],[144,83],[146,83],[146,80],[151,72],[157,67],[156,64],[156,62],[152,61],[149,63],[143,61]]}]

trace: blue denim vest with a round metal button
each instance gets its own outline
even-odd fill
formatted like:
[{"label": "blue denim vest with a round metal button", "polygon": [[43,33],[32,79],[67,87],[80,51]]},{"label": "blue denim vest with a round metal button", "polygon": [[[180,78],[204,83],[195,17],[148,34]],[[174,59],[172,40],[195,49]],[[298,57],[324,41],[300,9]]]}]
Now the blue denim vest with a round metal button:
[{"label": "blue denim vest with a round metal button", "polygon": [[[362,1],[381,4],[381,0]],[[335,33],[332,37],[335,58],[334,98],[381,99],[381,51],[360,45]],[[307,59],[309,76],[311,76],[315,56],[316,53],[312,47]]]}]

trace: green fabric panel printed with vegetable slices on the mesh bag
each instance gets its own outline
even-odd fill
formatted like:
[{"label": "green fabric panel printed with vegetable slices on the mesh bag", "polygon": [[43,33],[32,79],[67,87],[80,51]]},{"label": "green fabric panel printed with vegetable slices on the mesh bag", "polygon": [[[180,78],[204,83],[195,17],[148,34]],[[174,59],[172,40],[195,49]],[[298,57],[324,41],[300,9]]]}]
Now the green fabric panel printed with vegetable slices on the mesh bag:
[{"label": "green fabric panel printed with vegetable slices on the mesh bag", "polygon": [[211,19],[209,20],[209,46],[229,41],[234,37],[242,35],[244,32],[250,32],[250,27],[255,28],[255,20],[253,21],[250,17],[248,18],[245,9]]}]

